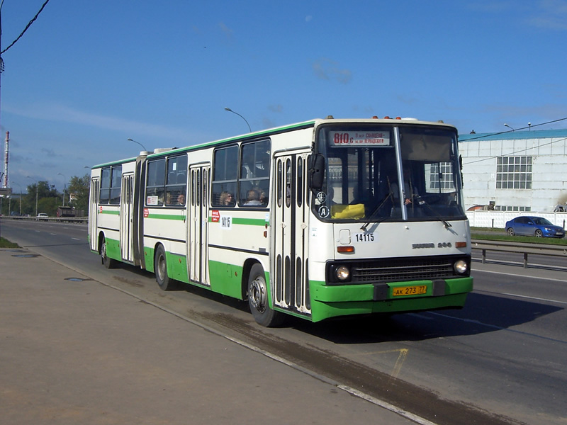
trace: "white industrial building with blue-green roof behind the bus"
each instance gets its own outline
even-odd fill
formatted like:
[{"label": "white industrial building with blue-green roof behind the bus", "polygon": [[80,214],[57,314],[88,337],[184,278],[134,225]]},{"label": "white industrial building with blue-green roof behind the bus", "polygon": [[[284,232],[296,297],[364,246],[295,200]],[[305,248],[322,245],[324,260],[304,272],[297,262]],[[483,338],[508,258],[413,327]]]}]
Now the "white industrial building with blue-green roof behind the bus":
[{"label": "white industrial building with blue-green roof behind the bus", "polygon": [[459,135],[465,208],[567,210],[567,130]]}]

